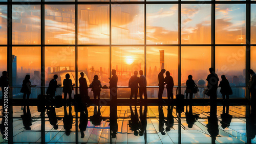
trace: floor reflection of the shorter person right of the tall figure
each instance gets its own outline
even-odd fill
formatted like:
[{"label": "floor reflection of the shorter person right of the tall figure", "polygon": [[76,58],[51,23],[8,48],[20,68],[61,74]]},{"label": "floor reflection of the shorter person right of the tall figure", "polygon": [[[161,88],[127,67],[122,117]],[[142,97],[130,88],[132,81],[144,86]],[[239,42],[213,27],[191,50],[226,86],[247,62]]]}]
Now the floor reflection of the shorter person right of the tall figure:
[{"label": "floor reflection of the shorter person right of the tall figure", "polygon": [[[225,110],[226,107],[226,110]],[[221,114],[221,127],[225,129],[230,126],[232,120],[232,115],[229,114],[229,104],[223,105],[223,110]]]}]

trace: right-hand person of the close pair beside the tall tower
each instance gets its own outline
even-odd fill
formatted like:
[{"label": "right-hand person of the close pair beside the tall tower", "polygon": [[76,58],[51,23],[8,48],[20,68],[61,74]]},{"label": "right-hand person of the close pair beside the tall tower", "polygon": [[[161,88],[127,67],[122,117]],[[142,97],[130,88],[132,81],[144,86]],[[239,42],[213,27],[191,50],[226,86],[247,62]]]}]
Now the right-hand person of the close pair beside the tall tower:
[{"label": "right-hand person of the close pair beside the tall tower", "polygon": [[167,90],[167,98],[170,100],[170,98],[174,99],[173,89],[174,89],[174,79],[172,76],[170,76],[170,72],[166,71],[165,73],[166,77],[164,79]]}]

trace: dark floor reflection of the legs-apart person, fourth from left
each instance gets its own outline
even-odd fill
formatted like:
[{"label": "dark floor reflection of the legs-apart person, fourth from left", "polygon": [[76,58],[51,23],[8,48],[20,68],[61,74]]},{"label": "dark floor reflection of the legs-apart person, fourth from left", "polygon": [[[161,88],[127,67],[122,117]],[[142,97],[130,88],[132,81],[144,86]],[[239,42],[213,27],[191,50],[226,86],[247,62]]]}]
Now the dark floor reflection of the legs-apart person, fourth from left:
[{"label": "dark floor reflection of the legs-apart person, fourth from left", "polygon": [[63,117],[63,127],[66,130],[66,135],[70,135],[70,130],[72,129],[73,115],[72,107],[69,106],[69,114],[67,111],[67,106],[64,106],[64,117]]}]

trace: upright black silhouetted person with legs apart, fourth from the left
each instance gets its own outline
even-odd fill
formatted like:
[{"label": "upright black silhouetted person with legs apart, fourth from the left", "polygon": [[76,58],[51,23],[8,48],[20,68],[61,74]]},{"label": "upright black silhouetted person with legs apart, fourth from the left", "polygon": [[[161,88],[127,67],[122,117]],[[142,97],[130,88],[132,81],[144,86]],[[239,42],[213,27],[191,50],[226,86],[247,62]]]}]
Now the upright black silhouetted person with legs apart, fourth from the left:
[{"label": "upright black silhouetted person with legs apart, fourth from the left", "polygon": [[69,100],[72,99],[72,96],[71,96],[72,90],[74,90],[72,80],[70,79],[70,75],[66,74],[66,79],[63,80],[63,89],[62,89],[62,92],[64,92],[65,101],[67,100],[68,94],[69,94]]}]

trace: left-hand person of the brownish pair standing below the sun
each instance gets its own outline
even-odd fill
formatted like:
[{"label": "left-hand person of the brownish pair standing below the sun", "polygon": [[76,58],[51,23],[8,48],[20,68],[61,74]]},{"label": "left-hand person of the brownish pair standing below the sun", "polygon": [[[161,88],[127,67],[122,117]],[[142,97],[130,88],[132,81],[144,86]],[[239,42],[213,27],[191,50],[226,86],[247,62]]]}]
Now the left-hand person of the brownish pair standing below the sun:
[{"label": "left-hand person of the brownish pair standing below the sun", "polygon": [[137,76],[138,76],[138,71],[134,71],[134,75],[129,80],[129,87],[131,88],[130,100],[133,99],[133,95],[135,100],[137,100],[137,97],[138,97],[139,77]]}]

